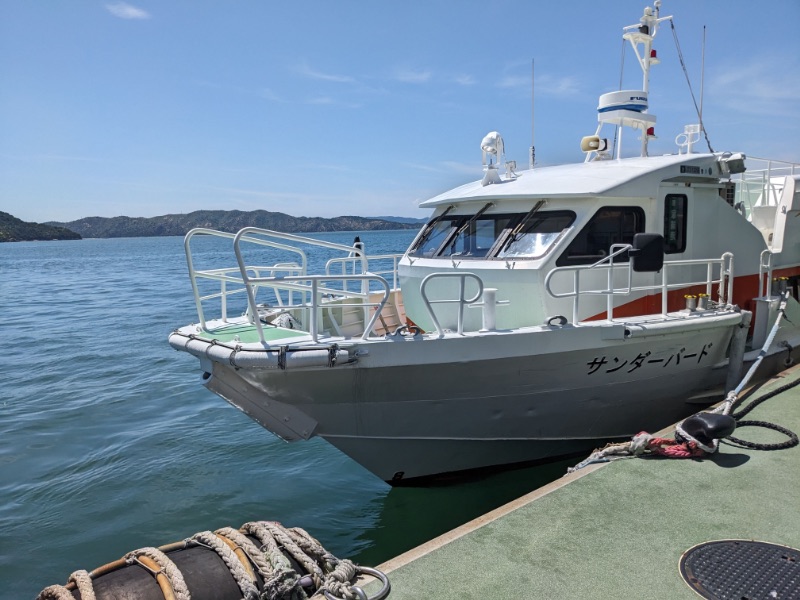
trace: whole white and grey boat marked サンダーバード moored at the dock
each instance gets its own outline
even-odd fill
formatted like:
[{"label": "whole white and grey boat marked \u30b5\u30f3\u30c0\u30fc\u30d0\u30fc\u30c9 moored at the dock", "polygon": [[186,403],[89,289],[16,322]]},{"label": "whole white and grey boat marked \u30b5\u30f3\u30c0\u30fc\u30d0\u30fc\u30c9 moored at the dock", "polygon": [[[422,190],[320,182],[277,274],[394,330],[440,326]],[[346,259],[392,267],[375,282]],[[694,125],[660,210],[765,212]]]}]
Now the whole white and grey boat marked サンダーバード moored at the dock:
[{"label": "whole white and grey boat marked \u30b5\u30f3\u30c0\u30fc\u30d0\u30fc\u30c9 moored at the dock", "polygon": [[275,435],[321,437],[392,485],[630,439],[719,401],[759,354],[762,376],[785,368],[800,166],[700,151],[700,118],[650,155],[653,40],[671,18],[657,0],[623,29],[642,86],[600,96],[583,160],[518,169],[489,133],[483,178],[423,202],[402,255],[190,231],[198,321],[169,343]]}]

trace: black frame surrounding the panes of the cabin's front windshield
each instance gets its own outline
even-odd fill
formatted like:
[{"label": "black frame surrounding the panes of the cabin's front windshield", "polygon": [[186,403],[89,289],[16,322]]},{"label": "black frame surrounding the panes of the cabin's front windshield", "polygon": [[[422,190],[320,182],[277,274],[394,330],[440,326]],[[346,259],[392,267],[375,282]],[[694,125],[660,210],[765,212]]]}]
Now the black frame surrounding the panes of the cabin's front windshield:
[{"label": "black frame surrounding the panes of the cabin's front windshield", "polygon": [[[571,209],[555,209],[555,210],[537,210],[535,216],[531,217],[532,211],[526,212],[497,212],[497,213],[487,213],[486,209],[488,206],[483,206],[481,210],[476,213],[468,214],[468,215],[440,215],[438,218],[434,217],[429,221],[429,226],[426,226],[425,234],[420,236],[419,240],[415,241],[411,248],[408,250],[408,255],[412,258],[438,258],[438,259],[457,259],[457,260],[539,260],[542,257],[546,256],[552,248],[556,246],[556,244],[561,240],[566,233],[572,228],[575,220],[577,219],[577,214],[574,210]],[[500,252],[502,252],[509,243],[509,239],[515,231],[515,228],[518,228],[519,225],[523,225],[523,227],[516,232],[517,235],[525,235],[531,233],[530,231],[526,231],[530,228],[536,227],[537,218],[539,219],[539,223],[541,224],[543,221],[549,220],[551,218],[567,218],[569,223],[561,228],[558,232],[552,232],[555,234],[555,237],[547,244],[546,249],[541,254],[536,255],[516,255],[516,256],[498,256]],[[504,223],[503,229],[497,230],[497,223],[501,220],[506,219],[507,222]],[[448,247],[452,247],[455,244],[459,237],[462,236],[465,232],[467,232],[468,236],[473,238],[476,237],[477,230],[481,226],[480,223],[482,221],[493,221],[495,223],[495,235],[492,243],[488,247],[481,246],[479,250],[482,251],[479,254],[458,254],[458,253],[447,253]],[[449,229],[447,233],[443,237],[442,243],[440,243],[436,250],[431,252],[422,253],[420,252],[420,248],[424,247],[426,242],[430,239],[431,233],[436,231],[437,226],[440,225],[442,222],[449,222]],[[470,231],[468,231],[468,229]]]}]

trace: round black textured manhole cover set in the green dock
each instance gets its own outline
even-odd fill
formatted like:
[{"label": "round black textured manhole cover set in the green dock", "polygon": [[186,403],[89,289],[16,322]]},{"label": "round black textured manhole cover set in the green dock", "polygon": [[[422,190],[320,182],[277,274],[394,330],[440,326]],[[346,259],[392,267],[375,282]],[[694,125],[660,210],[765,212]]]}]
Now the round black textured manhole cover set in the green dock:
[{"label": "round black textured manhole cover set in the green dock", "polygon": [[681,575],[710,600],[800,599],[800,550],[746,540],[705,542],[684,552]]}]

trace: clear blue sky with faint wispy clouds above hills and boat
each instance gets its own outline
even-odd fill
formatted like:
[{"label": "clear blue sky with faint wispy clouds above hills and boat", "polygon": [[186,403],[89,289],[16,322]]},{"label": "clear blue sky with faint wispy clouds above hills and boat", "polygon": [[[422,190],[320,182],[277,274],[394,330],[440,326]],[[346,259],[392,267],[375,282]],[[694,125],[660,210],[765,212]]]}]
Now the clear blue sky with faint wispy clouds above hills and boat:
[{"label": "clear blue sky with faint wispy clouds above hills and boat", "polygon": [[[265,209],[408,215],[481,176],[580,161],[639,0],[0,0],[0,210],[26,221]],[[664,0],[714,150],[800,162],[800,1]],[[696,122],[672,31],[651,153]],[[623,87],[641,75],[626,51]],[[626,139],[636,134],[627,133]],[[700,146],[705,149],[705,144]]]}]

